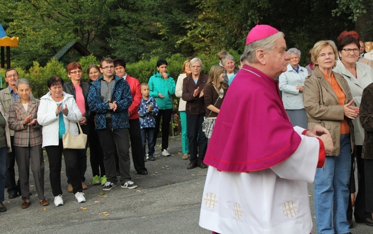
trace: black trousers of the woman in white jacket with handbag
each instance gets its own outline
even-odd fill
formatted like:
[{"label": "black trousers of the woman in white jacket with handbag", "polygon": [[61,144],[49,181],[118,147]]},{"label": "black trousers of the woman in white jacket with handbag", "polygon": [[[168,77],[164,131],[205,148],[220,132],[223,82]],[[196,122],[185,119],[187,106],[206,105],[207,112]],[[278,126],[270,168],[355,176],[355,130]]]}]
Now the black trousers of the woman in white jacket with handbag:
[{"label": "black trousers of the woman in white jacket with handbag", "polygon": [[64,149],[62,139],[59,145],[45,146],[49,161],[49,179],[51,181],[53,196],[62,195],[61,189],[61,161],[64,154],[66,172],[69,173],[73,192],[82,192],[82,181],[80,179],[78,154],[79,149]]}]

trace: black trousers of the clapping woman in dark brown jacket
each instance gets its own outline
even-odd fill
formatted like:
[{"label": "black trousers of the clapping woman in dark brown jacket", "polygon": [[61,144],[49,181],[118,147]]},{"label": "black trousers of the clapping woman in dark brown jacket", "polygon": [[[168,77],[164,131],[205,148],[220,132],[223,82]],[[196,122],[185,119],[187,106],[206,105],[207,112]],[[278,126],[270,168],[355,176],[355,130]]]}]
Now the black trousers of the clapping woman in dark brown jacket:
[{"label": "black trousers of the clapping woman in dark brown jacket", "polygon": [[206,153],[207,138],[202,131],[203,117],[204,115],[187,114],[187,135],[189,140],[190,162],[202,162]]}]

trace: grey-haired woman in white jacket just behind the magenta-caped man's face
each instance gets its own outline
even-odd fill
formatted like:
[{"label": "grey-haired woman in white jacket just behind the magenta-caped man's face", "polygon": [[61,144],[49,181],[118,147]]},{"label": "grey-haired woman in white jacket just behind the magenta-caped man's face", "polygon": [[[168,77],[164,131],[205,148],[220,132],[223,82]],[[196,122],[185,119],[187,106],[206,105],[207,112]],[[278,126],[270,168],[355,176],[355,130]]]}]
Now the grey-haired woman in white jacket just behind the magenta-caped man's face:
[{"label": "grey-haired woman in white jacket just behind the magenta-caped man's face", "polygon": [[286,53],[290,55],[290,64],[279,77],[283,107],[293,126],[307,129],[307,116],[303,106],[303,86],[308,71],[299,66],[300,51],[298,49],[291,48]]}]

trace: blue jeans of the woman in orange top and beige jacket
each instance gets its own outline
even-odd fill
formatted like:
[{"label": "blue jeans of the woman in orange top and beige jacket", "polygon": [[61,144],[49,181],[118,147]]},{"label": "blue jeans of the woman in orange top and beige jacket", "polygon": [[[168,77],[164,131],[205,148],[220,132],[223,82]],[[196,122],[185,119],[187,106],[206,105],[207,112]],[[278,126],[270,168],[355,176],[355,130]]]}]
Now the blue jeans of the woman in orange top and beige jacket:
[{"label": "blue jeans of the woman in orange top and beige jacket", "polygon": [[[319,234],[344,234],[350,232],[347,222],[349,181],[351,173],[350,134],[341,135],[338,156],[327,156],[325,168],[317,168],[314,199],[316,227]],[[333,210],[332,210],[333,209]]]}]

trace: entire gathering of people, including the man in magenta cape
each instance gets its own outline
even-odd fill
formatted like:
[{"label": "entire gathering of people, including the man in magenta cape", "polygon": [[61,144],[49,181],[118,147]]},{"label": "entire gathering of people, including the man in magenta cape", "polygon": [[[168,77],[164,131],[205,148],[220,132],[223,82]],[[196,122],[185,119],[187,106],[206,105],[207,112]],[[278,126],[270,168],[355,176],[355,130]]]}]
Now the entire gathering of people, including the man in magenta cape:
[{"label": "entire gathering of people, including the man in magenta cape", "polygon": [[[40,100],[28,80],[8,69],[8,87],[0,91],[0,212],[6,211],[5,184],[9,199],[21,196],[21,208],[30,206],[30,166],[39,203],[49,205],[43,148],[55,206],[64,205],[62,155],[68,191],[78,203],[86,202],[88,147],[93,185],[109,191],[119,180],[122,188],[137,188],[129,149],[140,175],[148,174],[147,160],[156,160],[159,130],[161,155],[171,155],[175,95],[182,159],[189,159],[187,169],[208,167],[201,227],[215,233],[308,234],[306,183],[312,181],[319,234],[349,234],[353,215],[356,222],[373,226],[373,52],[366,53],[365,45],[357,32],[344,31],[338,46],[332,40],[316,42],[310,63],[302,67],[300,51],[286,51],[282,32],[257,25],[238,67],[225,50],[208,75],[199,58],[190,58],[175,83],[167,61],[159,59],[149,82],[140,84],[126,73],[124,59],[104,58],[88,67],[86,83],[82,66],[71,62],[66,67],[71,81],[51,77],[49,92]],[[78,135],[79,129],[88,135],[85,148],[64,147],[63,135]],[[273,206],[263,206],[269,201]]]}]

